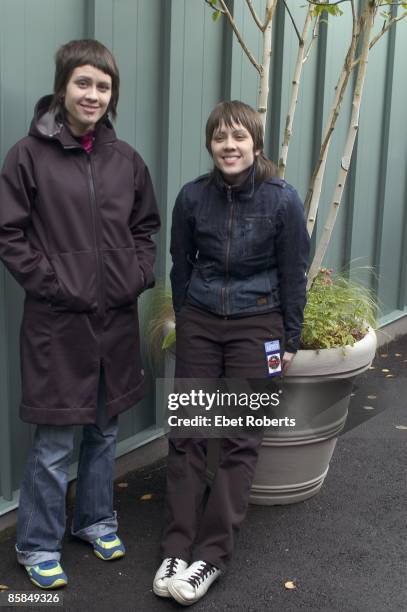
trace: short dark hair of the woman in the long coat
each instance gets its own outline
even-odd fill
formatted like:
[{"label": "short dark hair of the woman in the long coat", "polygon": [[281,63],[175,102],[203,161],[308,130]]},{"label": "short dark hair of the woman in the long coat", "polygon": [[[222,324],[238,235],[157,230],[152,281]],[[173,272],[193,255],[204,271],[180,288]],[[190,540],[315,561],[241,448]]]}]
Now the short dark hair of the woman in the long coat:
[{"label": "short dark hair of the woman in the long coat", "polygon": [[54,97],[51,102],[51,109],[56,110],[61,105],[61,99],[75,68],[86,64],[90,64],[110,75],[112,97],[110,98],[108,112],[115,119],[119,100],[119,69],[109,49],[93,39],[71,40],[59,47],[55,54]]}]

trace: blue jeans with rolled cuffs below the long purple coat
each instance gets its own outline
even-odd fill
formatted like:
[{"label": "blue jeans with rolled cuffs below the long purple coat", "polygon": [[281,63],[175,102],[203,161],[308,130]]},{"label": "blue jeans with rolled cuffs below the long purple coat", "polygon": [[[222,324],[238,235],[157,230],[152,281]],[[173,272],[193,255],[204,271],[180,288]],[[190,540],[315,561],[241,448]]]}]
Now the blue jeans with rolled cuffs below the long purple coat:
[{"label": "blue jeans with rolled cuffs below the long purple coat", "polygon": [[[117,531],[113,511],[113,466],[118,418],[105,411],[101,384],[97,422],[83,427],[71,532],[92,542]],[[23,565],[61,557],[65,498],[75,426],[37,425],[20,488],[17,560]]]}]

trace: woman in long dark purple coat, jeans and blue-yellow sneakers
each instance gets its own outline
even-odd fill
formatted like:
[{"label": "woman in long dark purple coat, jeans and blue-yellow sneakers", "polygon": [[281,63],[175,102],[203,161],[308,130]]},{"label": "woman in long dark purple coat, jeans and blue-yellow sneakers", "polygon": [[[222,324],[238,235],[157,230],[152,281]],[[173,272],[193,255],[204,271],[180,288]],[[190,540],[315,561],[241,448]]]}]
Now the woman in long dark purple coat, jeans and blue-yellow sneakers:
[{"label": "woman in long dark purple coat, jeans and blue-yellow sneakers", "polygon": [[123,556],[113,510],[118,414],[144,393],[137,298],[154,283],[159,215],[148,169],[118,140],[119,72],[108,49],[72,41],[54,94],[0,178],[0,258],[26,292],[23,421],[37,424],[20,489],[17,558],[34,584],[59,564],[76,425],[84,425],[72,532],[104,560]]}]

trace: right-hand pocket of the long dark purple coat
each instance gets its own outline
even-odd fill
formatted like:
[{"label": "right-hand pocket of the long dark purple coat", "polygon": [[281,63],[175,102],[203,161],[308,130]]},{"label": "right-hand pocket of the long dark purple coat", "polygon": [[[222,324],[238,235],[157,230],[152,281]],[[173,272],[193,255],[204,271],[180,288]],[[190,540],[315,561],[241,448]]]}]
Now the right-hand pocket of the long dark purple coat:
[{"label": "right-hand pocket of the long dark purple coat", "polygon": [[134,247],[103,251],[107,308],[135,302],[145,280]]}]

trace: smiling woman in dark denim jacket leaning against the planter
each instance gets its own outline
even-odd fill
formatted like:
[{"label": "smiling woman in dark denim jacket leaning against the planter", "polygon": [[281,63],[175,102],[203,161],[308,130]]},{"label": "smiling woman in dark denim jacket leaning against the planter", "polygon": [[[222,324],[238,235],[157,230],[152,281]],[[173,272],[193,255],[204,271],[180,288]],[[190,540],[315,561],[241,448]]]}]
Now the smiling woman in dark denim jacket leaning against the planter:
[{"label": "smiling woman in dark denim jacket leaning against the planter", "polygon": [[[187,183],[173,212],[175,376],[264,379],[265,343],[279,341],[283,371],[299,346],[309,253],[303,205],[293,187],[274,178],[260,116],[246,104],[214,108],[206,147],[213,172]],[[221,440],[204,502],[207,440],[170,437],[157,595],[190,605],[226,569],[260,442],[250,434]]]}]

